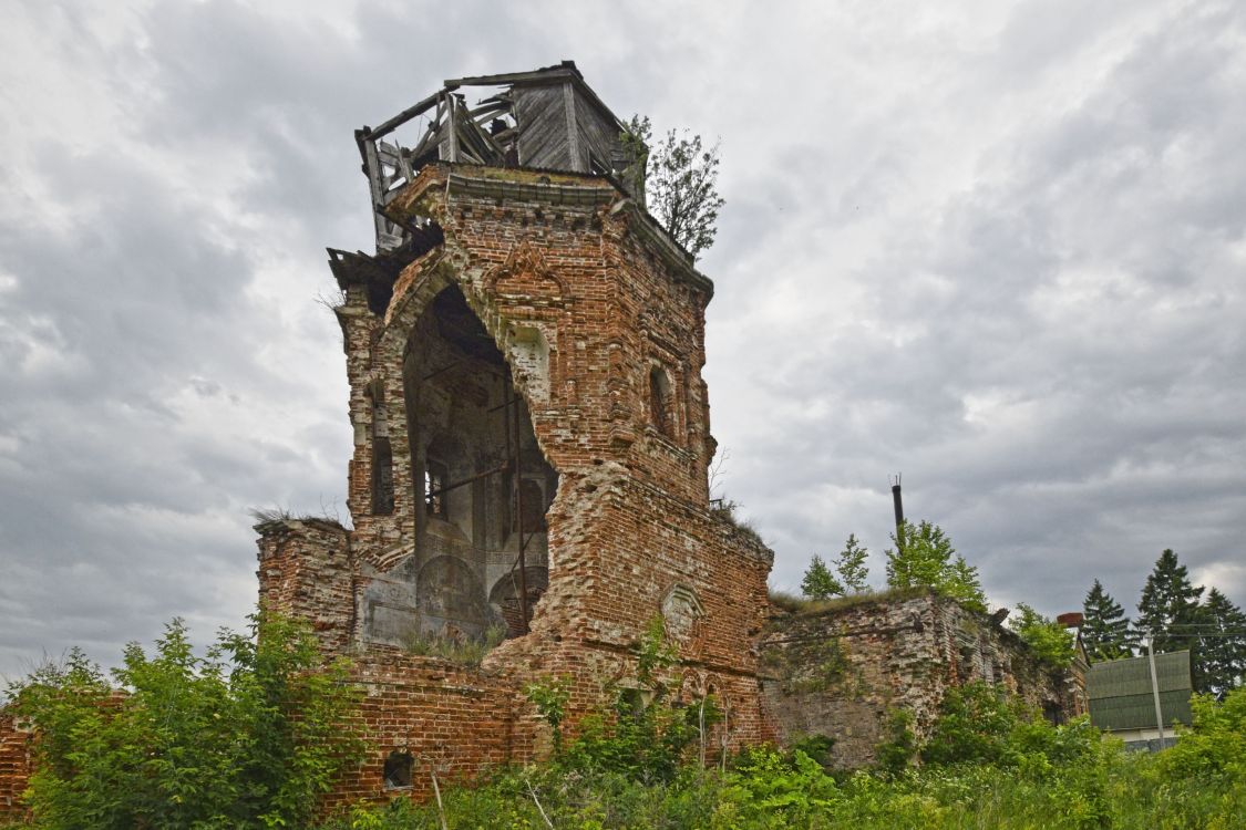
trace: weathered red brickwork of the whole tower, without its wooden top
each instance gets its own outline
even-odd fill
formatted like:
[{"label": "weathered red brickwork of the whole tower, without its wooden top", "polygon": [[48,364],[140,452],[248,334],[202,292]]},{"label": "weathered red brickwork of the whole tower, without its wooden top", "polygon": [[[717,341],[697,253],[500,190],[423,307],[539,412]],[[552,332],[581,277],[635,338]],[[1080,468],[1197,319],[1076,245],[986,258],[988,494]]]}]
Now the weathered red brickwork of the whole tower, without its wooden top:
[{"label": "weathered red brickwork of the whole tower, without its wooden top", "polygon": [[[685,697],[714,692],[729,711],[715,740],[771,735],[750,645],[765,623],[773,555],[708,505],[714,442],[700,371],[709,281],[601,178],[432,164],[391,210],[436,220],[445,243],[405,268],[384,312],[369,307],[363,286],[345,286],[338,315],[355,436],[354,530],[277,523],[259,543],[262,596],[313,620],[326,652],[351,656],[368,689],[373,749],[335,800],[388,795],[381,767],[399,748],[416,758],[417,796],[429,770],[471,776],[540,752],[548,735],[523,684],[567,674],[572,722],[599,709],[612,684],[634,677],[634,647],[657,613],[680,650],[672,681]],[[427,316],[451,285],[505,356],[533,449],[557,475],[530,554],[530,565],[548,567],[531,633],[502,643],[480,671],[379,645],[366,618],[379,596],[370,586],[400,592],[409,571],[439,555],[488,571],[471,561],[470,524],[426,515],[424,450],[411,443],[429,412],[466,429],[498,399],[455,381],[437,394],[471,406],[426,394],[427,412],[409,411],[419,399],[412,377],[452,362]],[[378,437],[389,445],[385,462]],[[376,463],[391,464],[392,510],[388,500],[375,509]]]}]

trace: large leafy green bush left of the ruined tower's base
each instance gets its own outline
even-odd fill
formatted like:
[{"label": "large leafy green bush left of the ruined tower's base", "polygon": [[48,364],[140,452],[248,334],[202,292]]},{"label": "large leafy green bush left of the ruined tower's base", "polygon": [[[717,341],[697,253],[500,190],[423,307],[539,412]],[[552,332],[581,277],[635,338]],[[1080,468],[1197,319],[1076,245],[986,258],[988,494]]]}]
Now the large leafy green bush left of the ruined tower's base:
[{"label": "large leafy green bush left of the ruined tower's base", "polygon": [[308,826],[361,758],[346,664],[310,628],[253,617],[197,657],[181,620],[151,656],[126,648],[120,689],[81,651],[9,687],[36,727],[27,800],[40,828]]}]

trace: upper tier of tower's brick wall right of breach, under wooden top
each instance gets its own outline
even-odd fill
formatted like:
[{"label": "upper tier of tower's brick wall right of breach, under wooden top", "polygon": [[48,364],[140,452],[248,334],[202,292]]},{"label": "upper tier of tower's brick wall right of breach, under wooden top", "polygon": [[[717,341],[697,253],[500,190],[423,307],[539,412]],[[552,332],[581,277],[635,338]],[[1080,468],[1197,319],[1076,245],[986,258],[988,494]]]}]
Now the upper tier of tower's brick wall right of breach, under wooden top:
[{"label": "upper tier of tower's brick wall right of breach, under wooden top", "polygon": [[[660,234],[629,204],[592,177],[426,167],[391,209],[436,217],[446,245],[436,266],[400,277],[389,325],[401,330],[415,316],[404,306],[422,307],[405,294],[435,294],[437,274],[454,274],[445,276],[506,353],[559,473],[617,460],[703,504],[711,286],[669,240],[655,248]],[[652,368],[670,385],[665,432],[650,417]]]}]

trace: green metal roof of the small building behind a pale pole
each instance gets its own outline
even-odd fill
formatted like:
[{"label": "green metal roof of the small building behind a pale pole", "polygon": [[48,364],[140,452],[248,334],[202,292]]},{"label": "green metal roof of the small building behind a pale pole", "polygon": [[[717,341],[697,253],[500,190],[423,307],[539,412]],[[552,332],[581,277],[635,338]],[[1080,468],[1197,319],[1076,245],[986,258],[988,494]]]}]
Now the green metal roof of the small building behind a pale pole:
[{"label": "green metal roof of the small building behind a pale pole", "polygon": [[[1155,655],[1164,725],[1190,723],[1190,652]],[[1090,723],[1100,729],[1149,729],[1155,727],[1155,698],[1151,668],[1146,657],[1094,663],[1087,673]]]}]

